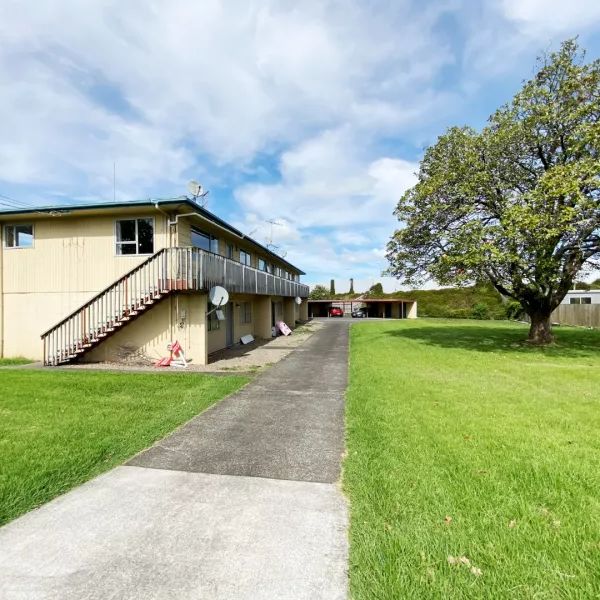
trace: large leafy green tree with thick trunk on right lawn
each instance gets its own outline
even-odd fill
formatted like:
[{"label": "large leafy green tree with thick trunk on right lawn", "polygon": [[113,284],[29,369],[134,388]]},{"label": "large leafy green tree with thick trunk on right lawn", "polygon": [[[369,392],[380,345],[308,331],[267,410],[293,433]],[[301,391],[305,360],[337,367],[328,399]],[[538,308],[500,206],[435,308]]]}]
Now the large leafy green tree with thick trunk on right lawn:
[{"label": "large leafy green tree with thick trunk on right lawn", "polygon": [[454,127],[425,152],[400,199],[389,272],[407,283],[487,278],[521,303],[529,340],[600,257],[600,61],[575,40],[477,132]]}]

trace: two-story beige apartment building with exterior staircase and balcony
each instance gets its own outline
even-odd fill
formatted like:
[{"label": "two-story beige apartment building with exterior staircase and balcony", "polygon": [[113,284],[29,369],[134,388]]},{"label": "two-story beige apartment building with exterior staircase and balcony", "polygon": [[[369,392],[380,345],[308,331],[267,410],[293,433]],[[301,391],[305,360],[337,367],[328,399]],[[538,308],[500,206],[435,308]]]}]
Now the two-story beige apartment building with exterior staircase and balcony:
[{"label": "two-story beige apartment building with exterior staircase and balcony", "polygon": [[300,269],[186,197],[4,210],[0,224],[2,357],[156,359],[178,340],[206,364],[308,317]]}]

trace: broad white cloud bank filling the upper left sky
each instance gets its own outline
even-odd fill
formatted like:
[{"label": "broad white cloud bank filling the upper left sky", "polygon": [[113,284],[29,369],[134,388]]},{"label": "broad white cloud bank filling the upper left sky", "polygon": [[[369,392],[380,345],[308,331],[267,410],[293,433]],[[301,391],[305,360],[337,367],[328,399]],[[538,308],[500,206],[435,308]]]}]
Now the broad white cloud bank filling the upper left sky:
[{"label": "broad white cloud bank filling the upper left sky", "polygon": [[0,180],[106,191],[116,160],[121,192],[139,196],[344,123],[371,136],[414,127],[452,60],[432,33],[445,10],[4,3]]}]

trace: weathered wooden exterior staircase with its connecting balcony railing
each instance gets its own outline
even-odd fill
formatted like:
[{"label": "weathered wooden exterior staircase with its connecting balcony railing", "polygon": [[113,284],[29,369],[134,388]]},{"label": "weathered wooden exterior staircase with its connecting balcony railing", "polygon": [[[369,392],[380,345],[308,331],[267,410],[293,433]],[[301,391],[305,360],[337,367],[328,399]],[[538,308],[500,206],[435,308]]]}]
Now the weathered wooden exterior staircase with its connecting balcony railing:
[{"label": "weathered wooden exterior staircase with its connecting balcony railing", "polygon": [[208,291],[308,296],[308,286],[199,248],[163,248],[42,334],[44,364],[74,362],[169,294]]}]

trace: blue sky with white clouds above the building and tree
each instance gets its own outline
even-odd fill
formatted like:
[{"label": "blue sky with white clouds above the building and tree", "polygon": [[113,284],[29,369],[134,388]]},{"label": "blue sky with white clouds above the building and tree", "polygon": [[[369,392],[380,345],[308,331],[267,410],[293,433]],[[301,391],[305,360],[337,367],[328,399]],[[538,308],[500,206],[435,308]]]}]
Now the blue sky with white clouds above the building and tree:
[{"label": "blue sky with white clouds above the building and tree", "polygon": [[[480,127],[597,0],[5,1],[0,194],[173,197],[271,237],[309,283],[381,281],[392,211],[446,127]],[[385,281],[388,290],[400,288]]]}]

